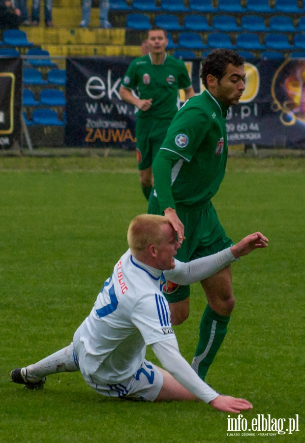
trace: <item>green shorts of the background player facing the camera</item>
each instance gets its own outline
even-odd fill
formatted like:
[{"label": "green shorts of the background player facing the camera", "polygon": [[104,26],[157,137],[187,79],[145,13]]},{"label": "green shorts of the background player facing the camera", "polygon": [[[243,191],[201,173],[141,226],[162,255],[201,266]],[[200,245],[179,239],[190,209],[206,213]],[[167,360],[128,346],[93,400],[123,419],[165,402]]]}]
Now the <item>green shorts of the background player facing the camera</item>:
[{"label": "green shorts of the background player facing the camera", "polygon": [[172,119],[137,119],[137,159],[140,170],[152,166],[171,122]]}]

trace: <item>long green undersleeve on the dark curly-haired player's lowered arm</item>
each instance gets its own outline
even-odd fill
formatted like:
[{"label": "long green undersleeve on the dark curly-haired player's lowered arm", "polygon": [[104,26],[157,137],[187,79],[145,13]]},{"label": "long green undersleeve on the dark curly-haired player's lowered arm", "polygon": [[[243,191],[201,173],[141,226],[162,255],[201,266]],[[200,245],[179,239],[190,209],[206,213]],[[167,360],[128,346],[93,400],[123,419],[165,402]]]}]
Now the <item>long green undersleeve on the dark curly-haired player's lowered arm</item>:
[{"label": "long green undersleeve on the dark curly-haired player's lowered arm", "polygon": [[166,208],[176,209],[172,194],[172,168],[181,156],[166,149],[160,149],[152,163],[154,189],[157,193],[161,211]]}]

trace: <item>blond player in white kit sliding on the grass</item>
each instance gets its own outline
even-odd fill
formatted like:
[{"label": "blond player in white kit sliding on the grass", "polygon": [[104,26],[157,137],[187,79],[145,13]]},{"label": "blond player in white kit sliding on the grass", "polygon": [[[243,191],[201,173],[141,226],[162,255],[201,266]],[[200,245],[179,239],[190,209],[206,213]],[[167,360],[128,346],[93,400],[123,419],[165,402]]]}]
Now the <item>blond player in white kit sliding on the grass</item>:
[{"label": "blond player in white kit sliding on the grass", "polygon": [[[268,239],[256,232],[224,251],[182,263],[174,258],[180,245],[165,217],[136,217],[127,238],[130,249],[115,265],[71,345],[13,370],[11,380],[33,389],[44,384],[46,375],[80,369],[93,389],[111,397],[199,399],[230,412],[252,408],[244,399],[218,394],[180,354],[162,286],[167,279],[185,285],[207,278],[241,255],[266,247]],[[164,369],[145,360],[147,345]]]}]

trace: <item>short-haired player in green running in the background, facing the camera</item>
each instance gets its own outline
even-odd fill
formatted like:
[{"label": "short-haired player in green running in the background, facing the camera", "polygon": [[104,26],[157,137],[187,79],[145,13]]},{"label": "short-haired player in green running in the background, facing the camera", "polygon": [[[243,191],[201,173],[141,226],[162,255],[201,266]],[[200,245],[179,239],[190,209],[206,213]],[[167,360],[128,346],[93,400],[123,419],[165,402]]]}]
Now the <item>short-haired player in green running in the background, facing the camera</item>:
[{"label": "short-haired player in green running in the background, facing the camera", "polygon": [[[133,60],[122,80],[123,100],[139,108],[136,122],[137,157],[140,182],[148,199],[152,190],[152,161],[166,131],[178,111],[179,89],[185,100],[194,95],[193,87],[182,60],[168,56],[167,33],[157,26],[148,32],[149,54]],[[136,92],[139,97],[133,95]]]}]

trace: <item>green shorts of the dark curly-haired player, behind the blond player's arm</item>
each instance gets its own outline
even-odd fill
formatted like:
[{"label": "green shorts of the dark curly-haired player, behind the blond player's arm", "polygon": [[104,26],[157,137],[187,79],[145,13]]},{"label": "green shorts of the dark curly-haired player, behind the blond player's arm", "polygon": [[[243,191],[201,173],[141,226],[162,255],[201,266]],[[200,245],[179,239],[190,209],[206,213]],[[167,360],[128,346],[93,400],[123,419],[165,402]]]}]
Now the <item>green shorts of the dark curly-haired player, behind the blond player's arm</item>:
[{"label": "green shorts of the dark curly-haired player, behind the blond player's arm", "polygon": [[[150,199],[149,214],[162,214],[154,198]],[[232,240],[227,237],[225,230],[218,220],[211,201],[194,210],[177,209],[177,215],[184,224],[184,237],[177,258],[188,262],[195,258],[205,257],[233,246]],[[189,297],[189,285],[176,285],[166,282],[164,295],[169,303],[176,303]]]}]

